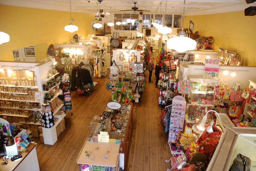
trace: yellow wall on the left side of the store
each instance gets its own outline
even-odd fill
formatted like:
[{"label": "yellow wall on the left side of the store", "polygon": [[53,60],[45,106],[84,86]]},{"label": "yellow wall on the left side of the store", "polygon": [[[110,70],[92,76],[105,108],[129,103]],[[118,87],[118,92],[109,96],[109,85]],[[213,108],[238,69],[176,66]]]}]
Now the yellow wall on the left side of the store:
[{"label": "yellow wall on the left side of the store", "polygon": [[[28,46],[41,47],[40,56],[36,60],[46,58],[48,46],[70,41],[74,34],[82,36],[95,34],[92,32],[94,14],[72,12],[73,22],[78,31],[69,33],[64,27],[70,23],[70,12],[43,10],[36,8],[16,7],[0,4],[0,31],[10,35],[10,41],[0,45],[0,60],[14,61],[12,50]],[[42,44],[45,44],[45,48]],[[42,52],[45,49],[45,53]]]}]

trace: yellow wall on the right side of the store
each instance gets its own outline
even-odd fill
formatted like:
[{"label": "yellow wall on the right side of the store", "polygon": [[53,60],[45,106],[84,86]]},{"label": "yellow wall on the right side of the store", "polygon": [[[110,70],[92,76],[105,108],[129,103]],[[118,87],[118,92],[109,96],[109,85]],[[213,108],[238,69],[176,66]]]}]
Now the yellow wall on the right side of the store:
[{"label": "yellow wall on the right side of the store", "polygon": [[193,21],[193,32],[200,36],[213,36],[211,48],[219,47],[236,52],[242,65],[256,66],[256,17],[244,16],[244,11],[226,12],[209,15],[187,16],[184,28]]}]

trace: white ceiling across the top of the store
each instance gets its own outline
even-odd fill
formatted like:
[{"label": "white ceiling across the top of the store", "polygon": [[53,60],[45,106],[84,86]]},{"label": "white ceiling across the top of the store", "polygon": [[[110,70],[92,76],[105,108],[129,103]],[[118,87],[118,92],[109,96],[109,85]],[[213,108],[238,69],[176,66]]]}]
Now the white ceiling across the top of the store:
[{"label": "white ceiling across the top of the store", "polygon": [[[118,10],[131,10],[134,7],[135,0],[103,0],[101,5],[98,5],[98,9],[102,9],[104,12],[118,12]],[[97,0],[71,0],[72,12],[83,13],[96,13]],[[148,10],[150,12],[144,13],[157,13],[165,12],[165,5],[167,5],[168,14],[183,14],[184,0],[137,0],[136,7],[139,10]],[[0,4],[40,8],[59,11],[70,11],[69,0],[0,0]],[[213,14],[229,11],[243,11],[249,6],[255,6],[255,3],[246,4],[245,0],[186,0],[185,16],[186,15],[201,15],[201,14]],[[120,12],[121,13],[121,12]],[[124,12],[123,12],[124,13]],[[126,13],[133,13],[128,11]],[[137,11],[136,13],[139,13]]]}]

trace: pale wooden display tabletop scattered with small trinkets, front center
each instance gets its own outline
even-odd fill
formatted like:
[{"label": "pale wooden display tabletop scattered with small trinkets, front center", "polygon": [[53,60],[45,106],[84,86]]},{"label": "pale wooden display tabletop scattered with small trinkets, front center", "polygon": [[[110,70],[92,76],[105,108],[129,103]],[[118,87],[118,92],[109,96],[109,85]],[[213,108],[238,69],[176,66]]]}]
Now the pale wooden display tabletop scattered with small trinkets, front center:
[{"label": "pale wooden display tabletop scattered with small trinkets, front center", "polygon": [[[95,148],[99,147],[98,150]],[[89,152],[89,149],[92,149],[92,152]],[[79,164],[79,168],[81,169],[82,164],[89,165],[89,168],[91,169],[93,165],[96,166],[108,166],[108,167],[115,167],[115,170],[118,170],[118,163],[119,163],[119,150],[120,150],[120,144],[113,144],[113,143],[103,143],[103,142],[90,142],[85,141],[81,151],[79,152],[79,155],[76,159],[76,163]],[[90,154],[90,157],[86,157],[85,151]],[[109,153],[107,154],[107,151]],[[103,158],[102,156],[104,154],[107,154],[108,157]],[[94,160],[92,160],[92,155],[94,155]]]}]

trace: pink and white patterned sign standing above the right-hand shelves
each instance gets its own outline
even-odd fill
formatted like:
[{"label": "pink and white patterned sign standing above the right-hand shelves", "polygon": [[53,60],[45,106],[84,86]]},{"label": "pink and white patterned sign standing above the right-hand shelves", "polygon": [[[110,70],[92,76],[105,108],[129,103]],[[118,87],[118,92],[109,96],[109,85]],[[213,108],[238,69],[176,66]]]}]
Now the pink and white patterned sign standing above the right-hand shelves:
[{"label": "pink and white patterned sign standing above the right-hand shelves", "polygon": [[218,78],[219,77],[220,59],[205,59],[204,74],[207,77]]}]

